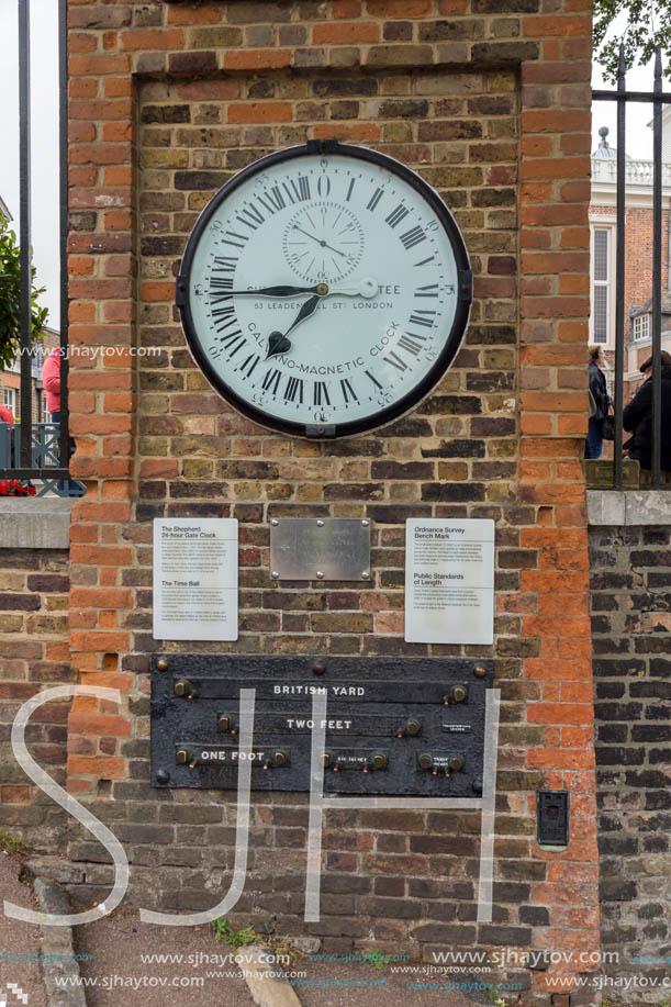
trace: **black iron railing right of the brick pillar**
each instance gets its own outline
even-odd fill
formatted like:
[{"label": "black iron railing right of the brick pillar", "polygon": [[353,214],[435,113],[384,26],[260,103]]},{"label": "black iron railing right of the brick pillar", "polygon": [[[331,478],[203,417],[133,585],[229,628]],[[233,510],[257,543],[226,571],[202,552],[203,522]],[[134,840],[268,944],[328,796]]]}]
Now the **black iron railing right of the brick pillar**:
[{"label": "black iron railing right of the brick pillar", "polygon": [[[671,104],[671,93],[662,91],[661,49],[655,52],[652,91],[627,91],[624,44],[619,47],[617,88],[614,91],[593,90],[593,101],[617,102],[616,128],[616,254],[615,254],[615,382],[614,413],[615,439],[613,445],[613,485],[623,488],[623,411],[625,361],[625,248],[626,248],[626,186],[631,171],[627,170],[625,155],[626,110],[630,102],[652,104],[652,451],[650,459],[650,486],[661,482],[661,294],[662,294],[662,107]],[[649,175],[648,175],[649,178]],[[669,264],[671,268],[671,264]],[[667,433],[671,436],[671,432]]]}]

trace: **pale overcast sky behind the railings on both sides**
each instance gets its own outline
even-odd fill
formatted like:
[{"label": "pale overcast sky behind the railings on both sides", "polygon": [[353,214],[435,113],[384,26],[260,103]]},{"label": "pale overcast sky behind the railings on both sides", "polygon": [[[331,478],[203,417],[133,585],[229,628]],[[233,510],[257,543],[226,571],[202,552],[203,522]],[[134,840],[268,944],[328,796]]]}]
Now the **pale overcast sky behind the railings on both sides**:
[{"label": "pale overcast sky behind the railings on both sides", "polygon": [[[19,230],[19,46],[16,0],[0,0],[0,38],[2,64],[0,81],[3,100],[0,105],[0,135],[3,156],[0,158],[0,195],[14,217]],[[49,309],[49,324],[58,327],[58,63],[56,0],[31,0],[32,18],[32,164],[33,209],[32,243],[37,281],[46,286],[42,303]],[[618,30],[617,22],[614,25]],[[636,68],[627,78],[636,90],[652,89],[650,68]],[[594,87],[606,87],[594,68]],[[650,105],[634,104],[627,110],[627,153],[637,159],[652,156],[652,131],[647,123],[652,118]],[[599,127],[608,126],[608,142],[615,146],[615,104],[599,102],[593,108],[593,148],[599,144]]]}]

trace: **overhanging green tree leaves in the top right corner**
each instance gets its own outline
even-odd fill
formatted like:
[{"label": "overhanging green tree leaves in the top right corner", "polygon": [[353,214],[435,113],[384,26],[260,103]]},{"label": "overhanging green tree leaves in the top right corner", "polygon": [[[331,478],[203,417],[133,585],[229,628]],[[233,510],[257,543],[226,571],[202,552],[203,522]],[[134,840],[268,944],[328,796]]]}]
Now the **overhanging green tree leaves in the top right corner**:
[{"label": "overhanging green tree leaves in the top right corner", "polygon": [[[613,22],[626,14],[627,23],[616,38],[608,38]],[[611,83],[617,79],[619,43],[630,69],[647,64],[660,46],[664,76],[671,79],[671,3],[669,0],[594,0],[594,58]],[[650,90],[652,88],[650,87]]]}]

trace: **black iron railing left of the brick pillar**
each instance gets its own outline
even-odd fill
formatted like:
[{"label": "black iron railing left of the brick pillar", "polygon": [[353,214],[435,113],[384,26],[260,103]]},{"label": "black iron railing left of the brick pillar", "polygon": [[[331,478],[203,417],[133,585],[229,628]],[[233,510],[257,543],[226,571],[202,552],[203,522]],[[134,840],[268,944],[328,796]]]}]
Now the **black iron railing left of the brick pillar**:
[{"label": "black iron railing left of the brick pillar", "polygon": [[[31,311],[31,0],[18,0],[19,21],[19,235],[21,247],[20,318],[20,416],[13,437],[0,434],[0,478],[43,480],[44,488],[69,495],[70,458],[68,413],[68,180],[67,180],[67,0],[58,4],[58,167],[59,167],[59,261],[60,261],[60,413],[59,424],[33,423],[33,380],[35,349],[32,339]],[[46,438],[49,449],[45,449]],[[56,447],[57,441],[57,447]],[[4,446],[4,447],[3,447]]]}]

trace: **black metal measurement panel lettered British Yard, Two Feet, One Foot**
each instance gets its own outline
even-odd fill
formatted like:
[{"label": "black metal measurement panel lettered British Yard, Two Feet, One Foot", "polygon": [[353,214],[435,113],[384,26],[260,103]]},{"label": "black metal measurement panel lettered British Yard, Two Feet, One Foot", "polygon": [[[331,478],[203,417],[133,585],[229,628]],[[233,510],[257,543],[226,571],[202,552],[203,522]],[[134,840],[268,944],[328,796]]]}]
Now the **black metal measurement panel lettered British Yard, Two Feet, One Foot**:
[{"label": "black metal measurement panel lettered British Yard, Two Feet, One Foot", "polygon": [[479,796],[491,687],[492,662],[463,658],[159,654],[152,782],[235,790],[241,690],[251,689],[253,790],[309,791],[323,726],[325,794]]}]

